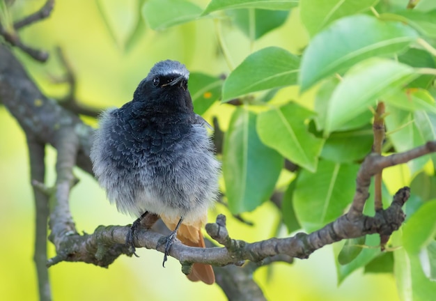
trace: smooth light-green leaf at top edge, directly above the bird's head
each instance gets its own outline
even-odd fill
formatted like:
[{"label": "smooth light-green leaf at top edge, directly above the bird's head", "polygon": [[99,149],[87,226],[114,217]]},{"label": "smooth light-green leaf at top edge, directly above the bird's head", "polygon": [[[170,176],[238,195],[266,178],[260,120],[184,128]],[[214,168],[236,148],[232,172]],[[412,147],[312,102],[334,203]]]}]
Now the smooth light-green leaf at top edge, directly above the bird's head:
[{"label": "smooth light-green leaf at top edge, directly above the bird's head", "polygon": [[196,20],[201,12],[200,7],[185,0],[149,0],[142,8],[143,18],[155,30]]}]

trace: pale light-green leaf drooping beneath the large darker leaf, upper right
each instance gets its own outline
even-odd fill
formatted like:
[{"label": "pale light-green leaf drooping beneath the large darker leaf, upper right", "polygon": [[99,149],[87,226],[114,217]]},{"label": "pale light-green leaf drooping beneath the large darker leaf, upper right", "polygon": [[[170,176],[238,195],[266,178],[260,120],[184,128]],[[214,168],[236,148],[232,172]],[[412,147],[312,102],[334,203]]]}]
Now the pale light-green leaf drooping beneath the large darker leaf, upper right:
[{"label": "pale light-green leaf drooping beneath the large darker leaf, upper right", "polygon": [[387,59],[368,59],[352,68],[336,87],[325,116],[325,134],[359,116],[383,95],[416,77],[408,65]]}]

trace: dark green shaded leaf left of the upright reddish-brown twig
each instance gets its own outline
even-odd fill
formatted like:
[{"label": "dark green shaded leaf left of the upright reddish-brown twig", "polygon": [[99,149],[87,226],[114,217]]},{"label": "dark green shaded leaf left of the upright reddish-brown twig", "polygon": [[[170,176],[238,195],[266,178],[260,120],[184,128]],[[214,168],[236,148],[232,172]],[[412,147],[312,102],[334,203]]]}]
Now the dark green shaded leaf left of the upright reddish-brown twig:
[{"label": "dark green shaded leaf left of the upright reddish-brown twig", "polygon": [[334,162],[356,162],[368,155],[372,146],[371,125],[358,130],[333,132],[325,141],[321,157]]}]

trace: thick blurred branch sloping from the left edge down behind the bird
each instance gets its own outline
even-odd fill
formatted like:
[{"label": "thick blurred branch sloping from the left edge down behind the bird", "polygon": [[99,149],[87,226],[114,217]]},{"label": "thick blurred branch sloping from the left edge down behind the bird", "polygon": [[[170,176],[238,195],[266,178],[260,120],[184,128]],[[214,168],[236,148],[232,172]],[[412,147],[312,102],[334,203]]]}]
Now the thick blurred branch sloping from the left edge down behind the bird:
[{"label": "thick blurred branch sloping from the left edge down behind the bird", "polygon": [[20,123],[24,132],[45,144],[56,144],[61,126],[69,126],[79,137],[77,166],[92,174],[92,128],[79,117],[47,98],[35,86],[21,63],[9,49],[0,44],[0,102]]}]

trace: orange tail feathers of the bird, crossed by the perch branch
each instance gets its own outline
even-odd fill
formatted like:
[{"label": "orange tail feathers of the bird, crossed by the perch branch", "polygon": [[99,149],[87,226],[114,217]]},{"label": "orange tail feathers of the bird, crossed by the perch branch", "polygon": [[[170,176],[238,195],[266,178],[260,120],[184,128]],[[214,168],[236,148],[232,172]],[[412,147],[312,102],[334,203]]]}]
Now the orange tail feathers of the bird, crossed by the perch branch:
[{"label": "orange tail feathers of the bird, crossed by the perch branch", "polygon": [[[162,216],[161,216],[162,218]],[[166,224],[169,229],[173,230],[176,228],[177,222],[173,223],[172,221],[168,221],[165,218],[162,218],[162,221]],[[189,247],[205,247],[203,234],[201,234],[200,229],[201,224],[198,226],[180,224],[179,229],[177,231],[177,238],[184,244]],[[191,281],[203,281],[205,284],[214,284],[215,283],[215,274],[212,270],[212,265],[204,264],[204,263],[194,263],[192,265],[192,271],[187,275],[188,279]]]}]

